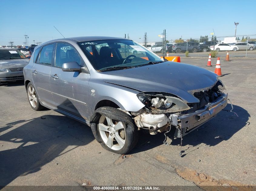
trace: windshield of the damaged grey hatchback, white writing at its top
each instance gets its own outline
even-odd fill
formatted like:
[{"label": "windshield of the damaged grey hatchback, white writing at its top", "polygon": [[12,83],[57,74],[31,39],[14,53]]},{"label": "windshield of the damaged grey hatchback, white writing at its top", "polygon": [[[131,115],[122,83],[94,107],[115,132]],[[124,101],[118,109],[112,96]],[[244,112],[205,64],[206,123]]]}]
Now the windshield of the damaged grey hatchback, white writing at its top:
[{"label": "windshield of the damaged grey hatchback, white writing at its top", "polygon": [[163,62],[154,53],[131,40],[95,40],[80,42],[81,47],[96,70],[106,68],[138,67],[152,62]]}]

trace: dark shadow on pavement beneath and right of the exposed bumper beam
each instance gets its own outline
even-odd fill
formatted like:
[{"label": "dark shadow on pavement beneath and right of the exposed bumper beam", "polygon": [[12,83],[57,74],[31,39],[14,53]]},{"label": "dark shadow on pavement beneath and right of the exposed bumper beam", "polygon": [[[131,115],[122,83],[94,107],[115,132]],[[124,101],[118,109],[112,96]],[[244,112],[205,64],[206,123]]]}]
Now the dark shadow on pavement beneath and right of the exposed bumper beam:
[{"label": "dark shadow on pavement beneath and right of the exposed bumper beam", "polygon": [[[222,110],[215,118],[184,136],[182,138],[182,157],[185,157],[187,154],[186,150],[188,150],[188,148],[194,147],[194,149],[192,149],[192,151],[194,151],[200,148],[201,145],[217,145],[222,141],[227,141],[236,132],[246,126],[250,114],[242,107],[236,105],[233,105],[233,107],[234,109],[232,111],[234,111],[238,116],[233,112]],[[227,107],[225,107],[225,110],[231,110],[231,104],[228,104]],[[138,144],[131,151],[131,154],[163,145],[163,141],[165,139],[164,133],[158,133],[157,135],[145,135],[141,130],[139,132]],[[170,142],[171,139],[171,144],[169,146],[180,146],[181,139],[174,138],[174,132],[175,128],[172,128],[167,134],[167,141]],[[168,149],[168,146],[166,148]]]}]

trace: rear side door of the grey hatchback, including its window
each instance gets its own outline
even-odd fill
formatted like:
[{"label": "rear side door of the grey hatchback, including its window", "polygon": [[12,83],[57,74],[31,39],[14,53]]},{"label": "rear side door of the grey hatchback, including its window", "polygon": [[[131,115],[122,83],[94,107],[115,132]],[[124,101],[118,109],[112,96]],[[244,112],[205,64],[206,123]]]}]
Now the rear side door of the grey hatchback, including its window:
[{"label": "rear side door of the grey hatchback, including its window", "polygon": [[55,43],[42,47],[35,64],[31,69],[32,80],[39,99],[47,105],[52,106],[52,94],[50,91],[50,72],[53,63],[53,50]]}]

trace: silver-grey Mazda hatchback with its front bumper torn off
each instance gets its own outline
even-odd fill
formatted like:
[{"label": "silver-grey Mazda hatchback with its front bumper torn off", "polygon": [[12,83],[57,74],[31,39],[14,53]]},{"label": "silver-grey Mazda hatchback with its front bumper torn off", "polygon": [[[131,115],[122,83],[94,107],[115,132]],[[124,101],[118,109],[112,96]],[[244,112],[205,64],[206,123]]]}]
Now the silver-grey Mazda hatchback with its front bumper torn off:
[{"label": "silver-grey Mazda hatchback with its front bumper torn off", "polygon": [[134,148],[138,129],[155,135],[175,128],[182,138],[216,116],[228,99],[213,72],[168,62],[115,37],[36,46],[24,77],[32,109],[47,107],[89,125],[102,147],[118,154]]}]

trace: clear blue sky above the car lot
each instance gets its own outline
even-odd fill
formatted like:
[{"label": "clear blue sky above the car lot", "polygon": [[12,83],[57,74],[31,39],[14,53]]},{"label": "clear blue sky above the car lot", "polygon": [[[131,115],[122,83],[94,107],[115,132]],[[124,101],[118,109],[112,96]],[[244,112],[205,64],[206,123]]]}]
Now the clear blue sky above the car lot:
[{"label": "clear blue sky above the car lot", "polygon": [[[21,45],[24,34],[29,44],[77,36],[113,36],[159,41],[166,29],[167,40],[200,38],[200,35],[256,34],[256,1],[152,1],[152,0],[43,0],[0,1],[0,45]],[[250,11],[246,11],[248,8]],[[246,14],[248,12],[248,14]],[[141,38],[141,39],[139,39]]]}]

